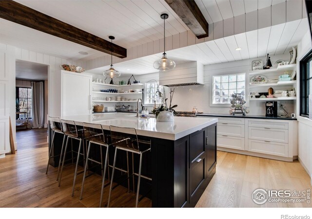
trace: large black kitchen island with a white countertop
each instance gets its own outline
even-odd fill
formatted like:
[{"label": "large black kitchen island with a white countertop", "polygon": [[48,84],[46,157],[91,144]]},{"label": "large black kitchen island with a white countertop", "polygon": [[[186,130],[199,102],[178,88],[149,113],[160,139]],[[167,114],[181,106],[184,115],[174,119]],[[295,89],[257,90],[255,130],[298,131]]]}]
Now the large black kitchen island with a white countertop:
[{"label": "large black kitchen island with a white countertop", "polygon": [[[73,120],[77,125],[101,124],[107,133],[110,125],[136,128],[139,138],[151,140],[144,171],[153,179],[150,196],[153,207],[194,207],[215,174],[217,119],[175,117],[174,122],[156,122],[153,117],[137,118],[133,113],[120,112],[63,119]],[[51,130],[49,134],[51,138]]]}]

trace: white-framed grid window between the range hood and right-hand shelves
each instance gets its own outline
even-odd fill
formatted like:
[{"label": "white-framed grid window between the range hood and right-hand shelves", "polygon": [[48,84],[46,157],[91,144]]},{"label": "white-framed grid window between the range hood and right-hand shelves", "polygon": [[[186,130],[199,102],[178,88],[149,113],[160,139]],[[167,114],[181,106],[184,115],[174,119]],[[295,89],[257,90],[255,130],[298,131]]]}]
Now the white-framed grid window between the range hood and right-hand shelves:
[{"label": "white-framed grid window between the range hood and right-hand shelves", "polygon": [[232,93],[245,94],[245,73],[213,76],[213,104],[230,104]]}]

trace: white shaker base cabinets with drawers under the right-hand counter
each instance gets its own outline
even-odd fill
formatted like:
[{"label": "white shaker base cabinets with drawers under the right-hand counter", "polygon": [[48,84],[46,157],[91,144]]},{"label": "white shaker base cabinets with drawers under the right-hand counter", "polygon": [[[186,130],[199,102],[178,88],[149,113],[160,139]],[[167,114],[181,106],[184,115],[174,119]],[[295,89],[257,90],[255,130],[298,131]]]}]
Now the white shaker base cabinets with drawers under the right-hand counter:
[{"label": "white shaker base cabinets with drawers under the right-hand counter", "polygon": [[298,156],[297,121],[218,117],[218,150],[283,161]]}]

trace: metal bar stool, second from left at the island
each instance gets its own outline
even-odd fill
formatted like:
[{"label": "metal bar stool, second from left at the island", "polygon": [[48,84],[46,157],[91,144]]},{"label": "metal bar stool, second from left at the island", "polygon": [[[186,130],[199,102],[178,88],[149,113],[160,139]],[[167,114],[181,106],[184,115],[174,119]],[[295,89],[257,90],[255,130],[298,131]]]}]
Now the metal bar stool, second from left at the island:
[{"label": "metal bar stool, second from left at the island", "polygon": [[[79,141],[78,152],[73,150],[73,146],[72,146],[71,151],[69,151],[69,152],[72,152],[72,160],[73,160],[73,153],[77,153],[77,161],[76,161],[76,168],[75,168],[75,175],[74,175],[74,182],[73,182],[73,189],[72,189],[72,196],[74,196],[74,190],[75,190],[75,184],[76,184],[77,175],[80,174],[80,173],[83,173],[83,171],[82,171],[82,172],[79,172],[77,174],[78,163],[79,163],[79,155],[83,155],[83,156],[85,155],[85,153],[84,153],[84,143],[83,143],[84,142],[83,141],[84,140],[84,131],[83,131],[83,128],[80,128],[80,129],[77,128],[77,125],[76,125],[75,121],[69,121],[69,120],[63,120],[63,119],[61,119],[60,121],[61,121],[62,126],[63,126],[63,132],[67,136],[67,140],[66,140],[66,145],[65,145],[65,149],[64,149],[62,165],[61,165],[61,169],[60,169],[59,186],[60,186],[60,182],[61,182],[61,179],[62,179],[62,172],[63,172],[64,163],[65,163],[66,153],[68,153],[68,151],[67,151],[68,140],[69,139],[76,139],[76,140]],[[83,150],[82,153],[80,153],[81,145],[82,145],[82,150]],[[85,159],[84,159],[83,162],[85,162]],[[83,166],[85,166],[85,164],[83,164]]]}]

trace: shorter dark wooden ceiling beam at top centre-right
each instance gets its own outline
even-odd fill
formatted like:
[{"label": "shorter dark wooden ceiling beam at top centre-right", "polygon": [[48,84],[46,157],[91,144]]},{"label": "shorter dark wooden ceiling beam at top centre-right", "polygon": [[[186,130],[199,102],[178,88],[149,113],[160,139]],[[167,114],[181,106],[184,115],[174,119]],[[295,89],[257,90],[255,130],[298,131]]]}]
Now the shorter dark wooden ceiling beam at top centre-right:
[{"label": "shorter dark wooden ceiling beam at top centre-right", "polygon": [[208,22],[195,0],[165,0],[182,21],[200,39],[208,37]]}]

